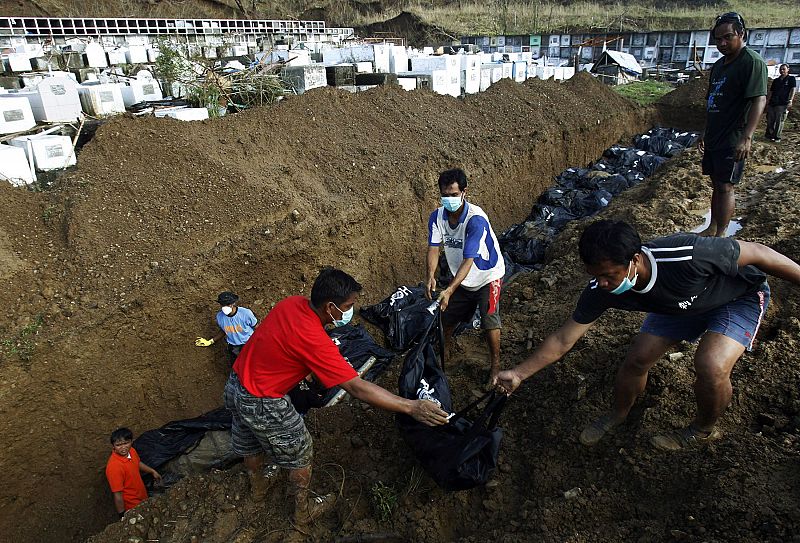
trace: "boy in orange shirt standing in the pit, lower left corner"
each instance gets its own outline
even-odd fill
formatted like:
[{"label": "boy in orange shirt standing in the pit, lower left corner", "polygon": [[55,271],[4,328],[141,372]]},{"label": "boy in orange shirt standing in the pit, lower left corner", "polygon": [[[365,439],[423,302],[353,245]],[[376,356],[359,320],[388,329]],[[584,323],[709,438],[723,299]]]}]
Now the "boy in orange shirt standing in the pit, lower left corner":
[{"label": "boy in orange shirt standing in the pit, lower left corner", "polygon": [[149,473],[161,482],[161,474],[139,460],[139,455],[131,445],[133,432],[127,428],[117,428],[111,433],[111,456],[106,464],[106,479],[114,495],[114,508],[122,518],[125,511],[133,509],[147,499],[147,489],[139,473]]}]

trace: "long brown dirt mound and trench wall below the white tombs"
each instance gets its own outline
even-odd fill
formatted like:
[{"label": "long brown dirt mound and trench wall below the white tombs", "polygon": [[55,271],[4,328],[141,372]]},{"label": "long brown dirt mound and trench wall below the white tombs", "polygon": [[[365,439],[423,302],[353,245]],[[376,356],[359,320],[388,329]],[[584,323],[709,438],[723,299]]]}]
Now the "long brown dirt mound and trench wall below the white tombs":
[{"label": "long brown dirt mound and trench wall below the white tombs", "polygon": [[[323,265],[367,285],[364,303],[417,282],[438,172],[463,167],[502,230],[554,174],[645,128],[618,100],[585,78],[503,82],[467,100],[320,89],[201,123],[116,118],[52,191],[0,187],[0,252],[17,270],[4,271],[0,334],[20,345],[0,364],[0,532],[39,542],[99,530],[113,520],[108,432],[219,404],[223,352],[193,346],[214,330],[217,292],[263,316],[307,294]],[[356,429],[374,424],[362,418]],[[388,434],[376,451],[397,449]]]}]

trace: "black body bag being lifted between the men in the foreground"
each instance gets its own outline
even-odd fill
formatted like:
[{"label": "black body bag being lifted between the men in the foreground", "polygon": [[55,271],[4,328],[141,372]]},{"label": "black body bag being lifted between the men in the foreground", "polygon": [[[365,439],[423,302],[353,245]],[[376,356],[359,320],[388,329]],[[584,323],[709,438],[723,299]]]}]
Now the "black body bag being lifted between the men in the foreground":
[{"label": "black body bag being lifted between the men in the foreground", "polygon": [[[441,324],[437,315],[427,333],[405,359],[400,372],[400,395],[439,403],[451,412],[452,398],[444,371],[436,357],[441,350]],[[504,394],[490,392],[453,415],[444,426],[432,428],[408,415],[397,415],[403,439],[423,469],[444,490],[467,490],[486,484],[497,467],[502,429],[497,420],[506,402]],[[474,420],[467,414],[485,404]]]}]

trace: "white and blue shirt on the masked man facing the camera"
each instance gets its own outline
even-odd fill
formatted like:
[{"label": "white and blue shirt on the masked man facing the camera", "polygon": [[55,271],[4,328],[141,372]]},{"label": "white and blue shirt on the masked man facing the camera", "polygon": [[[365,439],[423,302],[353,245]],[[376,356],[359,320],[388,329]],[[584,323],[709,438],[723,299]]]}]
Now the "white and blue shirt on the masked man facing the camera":
[{"label": "white and blue shirt on the masked man facing the camera", "polygon": [[428,220],[428,245],[444,245],[444,254],[450,273],[455,276],[465,258],[472,258],[472,268],[461,286],[467,290],[478,290],[506,273],[500,244],[494,235],[489,218],[484,211],[464,202],[464,209],[455,227],[450,225],[450,213],[440,207],[431,213]]}]

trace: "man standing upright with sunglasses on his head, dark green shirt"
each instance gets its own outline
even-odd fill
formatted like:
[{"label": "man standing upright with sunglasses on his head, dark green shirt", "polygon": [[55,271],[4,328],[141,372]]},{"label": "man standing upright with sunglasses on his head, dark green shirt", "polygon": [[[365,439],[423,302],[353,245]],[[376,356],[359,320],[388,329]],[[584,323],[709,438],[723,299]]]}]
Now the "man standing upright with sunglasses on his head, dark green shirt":
[{"label": "man standing upright with sunglasses on his head, dark green shirt", "polygon": [[697,144],[703,153],[703,173],[714,187],[711,224],[701,235],[722,237],[735,209],[733,188],[742,178],[766,105],[767,65],[745,47],[746,27],[738,13],[717,17],[711,37],[722,58],[711,68],[706,129]]}]

